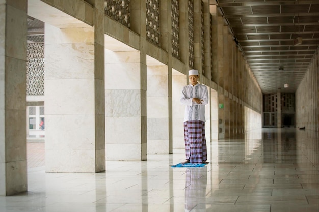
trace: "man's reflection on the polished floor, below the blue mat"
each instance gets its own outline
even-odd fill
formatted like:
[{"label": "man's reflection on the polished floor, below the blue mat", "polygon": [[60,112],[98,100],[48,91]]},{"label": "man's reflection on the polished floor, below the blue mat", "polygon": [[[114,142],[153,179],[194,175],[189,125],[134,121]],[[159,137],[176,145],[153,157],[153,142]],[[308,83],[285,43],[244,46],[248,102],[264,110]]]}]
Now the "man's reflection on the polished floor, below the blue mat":
[{"label": "man's reflection on the polished floor, below the blue mat", "polygon": [[207,167],[187,168],[185,211],[206,211]]}]

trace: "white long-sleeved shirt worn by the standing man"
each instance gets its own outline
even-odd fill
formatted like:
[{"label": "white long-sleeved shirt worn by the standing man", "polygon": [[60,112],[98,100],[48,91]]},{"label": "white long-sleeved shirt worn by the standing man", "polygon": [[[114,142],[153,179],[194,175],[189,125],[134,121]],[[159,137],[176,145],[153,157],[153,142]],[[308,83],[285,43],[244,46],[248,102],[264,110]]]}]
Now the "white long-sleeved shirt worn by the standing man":
[{"label": "white long-sleeved shirt worn by the standing man", "polygon": [[[202,104],[193,102],[193,98],[199,98]],[[207,87],[202,84],[195,86],[189,84],[183,87],[180,103],[186,105],[184,122],[188,120],[201,120],[205,122],[205,105],[208,104]]]}]

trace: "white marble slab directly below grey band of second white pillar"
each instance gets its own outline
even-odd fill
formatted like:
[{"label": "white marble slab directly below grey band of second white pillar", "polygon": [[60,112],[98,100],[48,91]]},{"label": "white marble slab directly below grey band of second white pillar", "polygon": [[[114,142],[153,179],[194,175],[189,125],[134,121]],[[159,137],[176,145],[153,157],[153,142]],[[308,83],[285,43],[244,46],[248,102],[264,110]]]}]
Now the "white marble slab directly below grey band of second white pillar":
[{"label": "white marble slab directly below grey band of second white pillar", "polygon": [[[141,139],[141,117],[105,118],[105,142],[107,145],[140,144]],[[108,148],[107,153],[110,153]],[[117,153],[122,154],[121,148],[118,149]]]}]

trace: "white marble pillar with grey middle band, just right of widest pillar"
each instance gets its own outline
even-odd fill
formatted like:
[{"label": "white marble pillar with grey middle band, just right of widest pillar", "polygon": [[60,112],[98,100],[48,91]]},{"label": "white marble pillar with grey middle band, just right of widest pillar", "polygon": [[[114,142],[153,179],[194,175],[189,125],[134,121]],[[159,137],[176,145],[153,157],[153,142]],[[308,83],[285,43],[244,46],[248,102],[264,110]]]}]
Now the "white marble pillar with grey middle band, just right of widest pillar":
[{"label": "white marble pillar with grey middle band, just right of widest pillar", "polygon": [[146,159],[146,99],[141,90],[140,57],[139,51],[113,52],[105,49],[107,160]]}]

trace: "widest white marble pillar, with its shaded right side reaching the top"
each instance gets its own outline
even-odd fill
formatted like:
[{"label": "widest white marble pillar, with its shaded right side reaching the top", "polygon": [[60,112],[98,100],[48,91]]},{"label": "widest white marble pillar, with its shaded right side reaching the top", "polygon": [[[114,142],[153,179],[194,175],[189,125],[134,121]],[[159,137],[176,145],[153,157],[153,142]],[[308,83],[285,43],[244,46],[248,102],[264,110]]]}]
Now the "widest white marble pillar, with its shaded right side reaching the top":
[{"label": "widest white marble pillar, with its shaded right side reaching the top", "polygon": [[104,1],[95,25],[45,24],[45,169],[105,170]]}]

